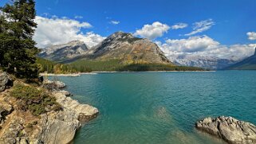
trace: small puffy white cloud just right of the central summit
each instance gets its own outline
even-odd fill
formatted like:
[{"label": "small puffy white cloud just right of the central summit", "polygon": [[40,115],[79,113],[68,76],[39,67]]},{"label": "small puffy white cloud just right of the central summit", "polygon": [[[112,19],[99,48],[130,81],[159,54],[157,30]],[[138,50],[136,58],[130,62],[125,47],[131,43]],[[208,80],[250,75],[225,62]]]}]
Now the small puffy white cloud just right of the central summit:
[{"label": "small puffy white cloud just right of the central summit", "polygon": [[144,25],[142,29],[136,30],[134,35],[153,40],[156,37],[162,37],[163,33],[167,33],[168,29],[170,29],[169,25],[156,21],[152,25]]}]

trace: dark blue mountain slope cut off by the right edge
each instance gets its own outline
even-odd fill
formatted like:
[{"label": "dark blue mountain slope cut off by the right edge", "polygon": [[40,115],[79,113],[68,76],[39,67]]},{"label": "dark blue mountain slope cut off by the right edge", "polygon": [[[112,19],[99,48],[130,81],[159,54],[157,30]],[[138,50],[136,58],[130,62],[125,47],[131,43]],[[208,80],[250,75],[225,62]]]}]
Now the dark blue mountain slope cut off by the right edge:
[{"label": "dark blue mountain slope cut off by the right edge", "polygon": [[231,65],[225,69],[231,70],[256,70],[256,48],[253,56],[250,56],[236,64]]}]

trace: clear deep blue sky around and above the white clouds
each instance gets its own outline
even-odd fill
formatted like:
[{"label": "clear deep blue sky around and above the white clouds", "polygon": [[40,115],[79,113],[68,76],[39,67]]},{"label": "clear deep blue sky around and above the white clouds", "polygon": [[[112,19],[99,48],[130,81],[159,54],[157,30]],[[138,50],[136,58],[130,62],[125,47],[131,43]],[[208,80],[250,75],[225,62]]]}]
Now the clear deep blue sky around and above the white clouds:
[{"label": "clear deep blue sky around and above the white clouds", "polygon": [[[3,6],[7,0],[1,0]],[[256,32],[255,0],[37,0],[37,16],[65,18],[88,22],[90,27],[79,28],[77,33],[95,33],[107,37],[116,31],[136,33],[144,25],[159,21],[168,29],[153,37],[152,41],[164,43],[168,39],[211,37],[221,45],[250,45],[248,32]],[[116,21],[116,25],[112,22]],[[195,22],[210,22],[201,33],[195,31]],[[183,29],[171,29],[172,25],[184,23]],[[117,24],[118,23],[118,24]],[[207,25],[204,25],[207,26]],[[193,29],[195,28],[195,29]],[[146,37],[139,33],[138,37]],[[255,36],[253,36],[255,37]]]}]

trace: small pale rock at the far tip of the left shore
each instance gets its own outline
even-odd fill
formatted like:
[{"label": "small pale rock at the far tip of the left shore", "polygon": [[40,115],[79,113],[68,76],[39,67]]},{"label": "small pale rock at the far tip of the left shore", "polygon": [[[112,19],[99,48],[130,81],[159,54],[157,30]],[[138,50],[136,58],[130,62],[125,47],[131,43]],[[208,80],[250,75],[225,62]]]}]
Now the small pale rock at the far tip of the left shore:
[{"label": "small pale rock at the far tip of the left shore", "polygon": [[48,89],[49,91],[59,91],[62,88],[65,88],[66,85],[61,81],[51,81],[45,80],[43,83],[43,88]]}]

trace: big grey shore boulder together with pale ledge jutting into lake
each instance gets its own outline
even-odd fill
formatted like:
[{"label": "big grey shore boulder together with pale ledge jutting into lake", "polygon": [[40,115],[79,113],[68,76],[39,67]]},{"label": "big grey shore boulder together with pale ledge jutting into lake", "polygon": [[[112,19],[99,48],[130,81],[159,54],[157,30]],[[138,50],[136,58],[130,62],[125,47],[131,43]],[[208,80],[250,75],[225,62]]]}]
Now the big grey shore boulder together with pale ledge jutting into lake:
[{"label": "big grey shore boulder together with pale ledge jutting into lake", "polygon": [[69,143],[73,140],[81,122],[95,118],[99,112],[95,107],[80,104],[61,91],[55,92],[53,96],[57,99],[57,103],[61,104],[63,111],[51,111],[46,115],[41,115],[39,123],[41,128],[34,142]]}]

